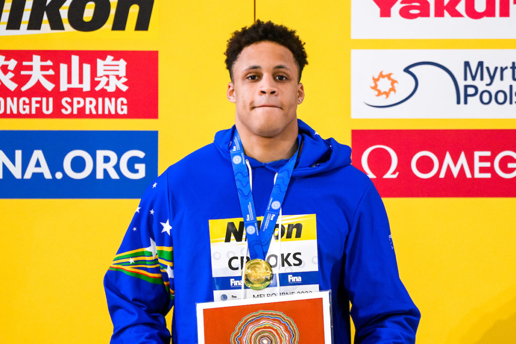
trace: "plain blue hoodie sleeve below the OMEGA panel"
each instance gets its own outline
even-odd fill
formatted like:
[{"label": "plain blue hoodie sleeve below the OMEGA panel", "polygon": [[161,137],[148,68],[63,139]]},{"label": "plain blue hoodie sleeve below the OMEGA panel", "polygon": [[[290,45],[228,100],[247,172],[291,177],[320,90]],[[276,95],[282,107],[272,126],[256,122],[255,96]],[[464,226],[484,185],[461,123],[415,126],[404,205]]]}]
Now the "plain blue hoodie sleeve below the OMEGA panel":
[{"label": "plain blue hoodie sleeve below the OMEGA panel", "polygon": [[356,209],[345,253],[354,342],[414,343],[421,314],[399,279],[389,221],[373,184]]}]

